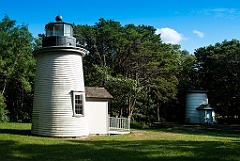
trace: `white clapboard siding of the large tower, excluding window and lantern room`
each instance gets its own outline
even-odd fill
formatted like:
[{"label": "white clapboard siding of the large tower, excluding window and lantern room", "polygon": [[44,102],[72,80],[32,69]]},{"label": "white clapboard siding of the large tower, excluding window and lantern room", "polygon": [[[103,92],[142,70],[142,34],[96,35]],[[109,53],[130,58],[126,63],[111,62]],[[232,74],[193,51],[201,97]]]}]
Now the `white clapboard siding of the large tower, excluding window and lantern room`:
[{"label": "white clapboard siding of the large tower, excluding window and lantern room", "polygon": [[[78,47],[47,47],[37,59],[32,133],[54,137],[89,135],[87,119],[73,116],[71,91],[84,93],[82,56]],[[85,102],[85,97],[83,97]]]}]

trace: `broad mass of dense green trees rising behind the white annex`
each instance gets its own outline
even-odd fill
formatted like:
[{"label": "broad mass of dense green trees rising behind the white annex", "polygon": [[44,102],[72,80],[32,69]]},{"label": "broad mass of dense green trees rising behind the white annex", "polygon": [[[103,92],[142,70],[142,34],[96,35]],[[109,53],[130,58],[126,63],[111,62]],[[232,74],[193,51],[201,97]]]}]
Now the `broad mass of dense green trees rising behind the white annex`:
[{"label": "broad mass of dense green trees rising behind the white annex", "polygon": [[180,46],[162,43],[155,31],[102,18],[94,26],[75,26],[77,41],[89,51],[84,58],[86,85],[105,86],[119,116],[154,115],[160,120],[157,109],[176,98]]}]

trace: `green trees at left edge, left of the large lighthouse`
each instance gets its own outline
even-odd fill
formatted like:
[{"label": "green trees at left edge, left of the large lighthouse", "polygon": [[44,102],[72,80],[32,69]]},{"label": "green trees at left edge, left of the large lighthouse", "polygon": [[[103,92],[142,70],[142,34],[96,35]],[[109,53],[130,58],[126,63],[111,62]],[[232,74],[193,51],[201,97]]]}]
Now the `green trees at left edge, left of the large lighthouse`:
[{"label": "green trees at left edge, left of the large lighthouse", "polygon": [[0,92],[12,120],[30,120],[35,60],[27,25],[5,16],[0,22]]}]

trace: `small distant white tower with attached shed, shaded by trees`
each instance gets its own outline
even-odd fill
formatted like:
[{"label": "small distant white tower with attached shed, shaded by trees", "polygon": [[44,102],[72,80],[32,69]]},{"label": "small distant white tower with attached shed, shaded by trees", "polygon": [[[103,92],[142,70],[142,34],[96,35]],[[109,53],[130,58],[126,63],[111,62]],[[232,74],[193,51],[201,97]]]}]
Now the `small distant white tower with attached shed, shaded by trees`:
[{"label": "small distant white tower with attached shed, shaded by trees", "polygon": [[208,104],[207,91],[189,90],[186,96],[186,122],[204,124],[216,122],[215,112]]}]

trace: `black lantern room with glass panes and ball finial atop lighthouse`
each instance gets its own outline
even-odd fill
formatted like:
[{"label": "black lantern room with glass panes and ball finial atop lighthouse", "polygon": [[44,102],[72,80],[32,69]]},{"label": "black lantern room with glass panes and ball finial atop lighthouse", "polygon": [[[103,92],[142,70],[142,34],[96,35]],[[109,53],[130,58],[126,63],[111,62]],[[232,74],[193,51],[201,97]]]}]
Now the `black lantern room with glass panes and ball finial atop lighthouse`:
[{"label": "black lantern room with glass panes and ball finial atop lighthouse", "polygon": [[73,37],[73,25],[62,22],[62,16],[56,17],[56,22],[45,26],[46,37],[42,47],[48,46],[76,46],[76,38]]}]

